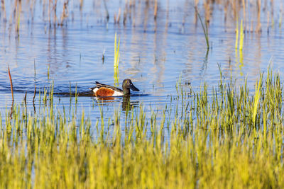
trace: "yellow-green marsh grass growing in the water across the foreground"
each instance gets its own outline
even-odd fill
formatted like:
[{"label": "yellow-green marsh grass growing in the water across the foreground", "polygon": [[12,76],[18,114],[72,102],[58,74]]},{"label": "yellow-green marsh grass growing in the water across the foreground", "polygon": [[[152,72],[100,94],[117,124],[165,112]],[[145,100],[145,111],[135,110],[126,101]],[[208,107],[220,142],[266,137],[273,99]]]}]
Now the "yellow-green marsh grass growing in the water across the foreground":
[{"label": "yellow-green marsh grass growing in the water across the foreground", "polygon": [[263,77],[255,92],[246,82],[199,92],[178,82],[170,106],[146,115],[129,105],[107,125],[103,114],[68,118],[51,87],[37,113],[6,110],[0,187],[283,188],[283,84]]}]

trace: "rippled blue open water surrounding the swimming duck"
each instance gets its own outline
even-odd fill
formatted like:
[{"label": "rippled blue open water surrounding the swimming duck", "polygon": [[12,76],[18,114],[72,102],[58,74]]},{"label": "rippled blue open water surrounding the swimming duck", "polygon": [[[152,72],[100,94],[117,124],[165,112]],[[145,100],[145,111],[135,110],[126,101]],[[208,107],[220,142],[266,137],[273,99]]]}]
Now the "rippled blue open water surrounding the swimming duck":
[{"label": "rippled blue open water surrounding the swimming duck", "polygon": [[[115,33],[121,42],[119,87],[124,79],[129,78],[141,90],[129,99],[134,108],[142,104],[150,113],[152,107],[161,110],[170,105],[171,96],[177,95],[175,85],[179,78],[186,91],[190,88],[199,90],[204,81],[209,88],[217,86],[218,64],[225,80],[232,77],[236,85],[240,85],[247,77],[249,88],[253,90],[259,73],[266,71],[269,64],[283,76],[283,26],[279,25],[283,13],[279,3],[262,2],[262,33],[246,33],[241,52],[235,49],[236,18],[233,11],[230,8],[224,11],[225,1],[211,4],[210,47],[207,52],[202,26],[199,20],[195,20],[192,1],[159,1],[156,20],[153,18],[152,1],[148,5],[144,1],[136,1],[135,6],[129,8],[131,13],[128,12],[125,25],[126,1],[107,1],[109,21],[104,1],[84,1],[81,10],[79,2],[70,1],[67,20],[62,26],[53,25],[53,13],[49,24],[48,2],[31,4],[23,1],[18,35],[12,16],[14,3],[6,2],[7,22],[3,21],[4,13],[1,11],[0,24],[1,115],[11,106],[8,64],[13,79],[14,103],[22,103],[27,93],[27,109],[31,113],[39,106],[38,91],[43,91],[53,82],[56,107],[69,110],[70,115],[72,112],[80,114],[84,109],[92,122],[96,122],[100,118],[98,104],[102,104],[107,118],[112,118],[117,108],[124,110],[122,97],[102,101],[86,95],[79,96],[76,103],[75,98],[70,100],[67,95],[70,86],[72,93],[75,93],[77,85],[79,93],[89,94],[88,88],[94,86],[94,81],[114,85]],[[247,28],[252,23],[254,30],[257,25],[256,4],[247,4]],[[61,1],[57,7],[57,23],[60,23]],[[116,24],[114,14],[118,14],[119,8],[121,18]],[[204,18],[202,2],[198,8]],[[238,13],[241,17],[241,8]],[[33,107],[35,85],[37,94]]]}]

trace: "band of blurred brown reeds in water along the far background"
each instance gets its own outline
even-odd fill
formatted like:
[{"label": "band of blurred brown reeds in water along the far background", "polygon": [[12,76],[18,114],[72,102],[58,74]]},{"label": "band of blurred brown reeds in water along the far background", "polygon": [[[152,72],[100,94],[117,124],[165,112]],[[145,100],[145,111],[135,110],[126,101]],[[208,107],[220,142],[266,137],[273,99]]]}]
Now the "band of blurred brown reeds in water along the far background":
[{"label": "band of blurred brown reeds in water along the far background", "polygon": [[[157,25],[157,21],[162,17],[166,18],[166,25],[170,25],[170,11],[175,10],[175,7],[171,7],[169,2],[166,3],[167,6],[163,7],[158,0],[126,0],[119,4],[117,10],[111,11],[109,11],[111,1],[94,0],[89,4],[86,2],[87,1],[84,0],[1,0],[0,20],[3,25],[5,25],[4,28],[8,28],[9,33],[13,30],[16,38],[18,38],[21,33],[21,25],[25,25],[26,23],[33,24],[38,18],[44,23],[45,30],[47,30],[47,28],[67,27],[68,24],[73,23],[77,19],[89,23],[89,17],[92,16],[92,14],[87,13],[86,16],[82,18],[82,13],[86,10],[90,11],[89,8],[92,8],[92,12],[100,16],[97,22],[112,23],[114,25],[129,24],[133,27],[136,27],[136,25],[144,25],[144,30],[147,30],[148,23],[154,22],[155,25]],[[206,28],[207,26],[209,28],[209,23],[212,22],[212,15],[215,9],[222,9],[222,19],[224,23],[226,23],[225,25],[243,20],[244,26],[240,31],[241,33],[262,33],[263,31],[269,33],[273,28],[282,28],[283,4],[278,5],[273,0],[264,2],[261,0],[195,0],[191,3],[185,1],[184,7],[184,16],[181,18],[182,27],[188,22],[186,19],[188,9],[192,8],[195,14],[193,23],[197,25],[198,17],[200,17],[199,14],[202,14]],[[199,8],[201,10],[200,12],[197,11]],[[136,13],[138,12],[144,13],[144,15],[140,15],[142,18],[137,18]],[[40,17],[37,15],[40,15]],[[190,21],[190,23],[192,23],[192,21]],[[233,28],[236,28],[236,25],[234,25]],[[154,31],[156,31],[156,28]],[[209,46],[208,42],[207,46]]]}]

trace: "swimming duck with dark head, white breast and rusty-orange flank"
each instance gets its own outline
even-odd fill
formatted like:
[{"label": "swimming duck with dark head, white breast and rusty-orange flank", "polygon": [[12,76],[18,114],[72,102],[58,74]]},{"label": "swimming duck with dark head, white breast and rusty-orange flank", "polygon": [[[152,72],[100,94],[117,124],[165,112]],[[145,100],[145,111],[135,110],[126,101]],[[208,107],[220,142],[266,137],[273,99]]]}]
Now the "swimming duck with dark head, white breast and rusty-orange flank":
[{"label": "swimming duck with dark head, white breast and rusty-orange flank", "polygon": [[96,81],[95,87],[89,88],[94,92],[95,96],[123,96],[123,95],[129,95],[130,89],[132,91],[139,91],[136,86],[132,84],[132,81],[130,79],[124,79],[122,83],[122,90],[120,88],[116,88],[114,86],[109,86],[105,84],[101,84],[98,81]]}]

